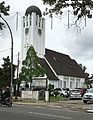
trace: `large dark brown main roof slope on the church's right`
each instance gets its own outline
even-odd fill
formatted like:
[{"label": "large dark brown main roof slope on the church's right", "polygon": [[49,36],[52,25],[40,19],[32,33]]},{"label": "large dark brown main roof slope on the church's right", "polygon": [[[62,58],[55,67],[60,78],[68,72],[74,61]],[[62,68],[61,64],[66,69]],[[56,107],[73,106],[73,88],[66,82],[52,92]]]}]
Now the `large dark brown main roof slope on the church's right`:
[{"label": "large dark brown main roof slope on the church's right", "polygon": [[85,78],[85,73],[77,62],[68,55],[45,49],[45,58],[57,75]]}]

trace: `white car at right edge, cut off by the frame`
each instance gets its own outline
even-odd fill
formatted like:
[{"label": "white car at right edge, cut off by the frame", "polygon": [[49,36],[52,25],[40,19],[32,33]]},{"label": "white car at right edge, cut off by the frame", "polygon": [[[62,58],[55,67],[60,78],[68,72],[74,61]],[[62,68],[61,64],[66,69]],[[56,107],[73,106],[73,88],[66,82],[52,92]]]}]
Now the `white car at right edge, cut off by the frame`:
[{"label": "white car at right edge, cut off by the frame", "polygon": [[88,89],[88,91],[83,95],[83,103],[93,102],[93,88]]}]

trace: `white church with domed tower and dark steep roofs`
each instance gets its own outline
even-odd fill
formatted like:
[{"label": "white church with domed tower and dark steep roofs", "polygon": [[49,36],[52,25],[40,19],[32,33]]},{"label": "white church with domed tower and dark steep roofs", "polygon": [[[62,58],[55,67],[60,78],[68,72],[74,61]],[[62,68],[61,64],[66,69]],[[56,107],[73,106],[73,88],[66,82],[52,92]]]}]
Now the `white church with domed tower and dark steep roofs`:
[{"label": "white church with domed tower and dark steep roofs", "polygon": [[28,7],[23,16],[21,61],[25,59],[31,45],[40,59],[41,66],[46,70],[48,85],[70,89],[83,87],[85,74],[77,62],[69,55],[45,48],[45,19],[36,6]]}]

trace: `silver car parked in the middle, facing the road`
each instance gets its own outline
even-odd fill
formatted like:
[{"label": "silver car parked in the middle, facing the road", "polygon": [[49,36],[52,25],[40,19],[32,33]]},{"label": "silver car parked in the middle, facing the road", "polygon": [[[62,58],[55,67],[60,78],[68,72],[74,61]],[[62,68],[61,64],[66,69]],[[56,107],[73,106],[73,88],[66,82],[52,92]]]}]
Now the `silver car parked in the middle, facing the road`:
[{"label": "silver car parked in the middle, facing the road", "polygon": [[72,89],[72,90],[70,90],[69,99],[82,99],[80,89]]}]

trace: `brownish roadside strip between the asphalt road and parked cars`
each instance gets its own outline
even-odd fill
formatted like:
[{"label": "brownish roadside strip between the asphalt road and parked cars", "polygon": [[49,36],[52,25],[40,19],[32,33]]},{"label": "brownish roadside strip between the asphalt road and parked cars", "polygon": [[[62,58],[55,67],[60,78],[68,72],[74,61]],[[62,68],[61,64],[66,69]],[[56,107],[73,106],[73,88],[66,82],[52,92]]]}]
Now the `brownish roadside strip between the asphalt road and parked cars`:
[{"label": "brownish roadside strip between the asphalt road and parked cars", "polygon": [[89,111],[93,110],[93,104],[84,104],[82,100],[67,100],[59,102],[44,102],[44,101],[16,101],[14,104],[19,105],[35,105],[35,106],[46,106],[53,108],[68,108],[74,111]]}]

